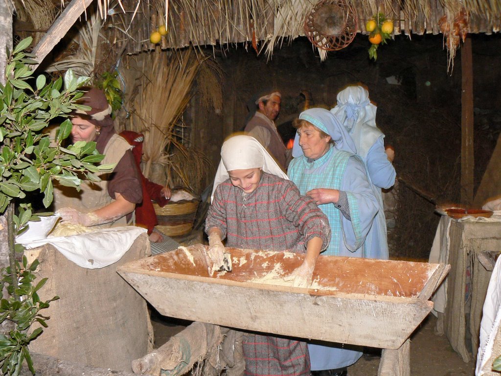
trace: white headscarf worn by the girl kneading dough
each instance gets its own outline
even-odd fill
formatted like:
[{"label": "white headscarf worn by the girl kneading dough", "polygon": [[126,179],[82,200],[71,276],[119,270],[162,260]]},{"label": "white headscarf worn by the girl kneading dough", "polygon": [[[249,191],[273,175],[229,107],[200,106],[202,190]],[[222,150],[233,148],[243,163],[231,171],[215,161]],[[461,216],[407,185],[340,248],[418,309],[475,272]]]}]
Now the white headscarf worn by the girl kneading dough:
[{"label": "white headscarf worn by the girl kneading dough", "polygon": [[259,141],[243,134],[228,138],[221,147],[221,161],[217,167],[210,201],[214,198],[217,185],[229,178],[228,171],[262,168],[263,171],[288,179],[275,159]]}]

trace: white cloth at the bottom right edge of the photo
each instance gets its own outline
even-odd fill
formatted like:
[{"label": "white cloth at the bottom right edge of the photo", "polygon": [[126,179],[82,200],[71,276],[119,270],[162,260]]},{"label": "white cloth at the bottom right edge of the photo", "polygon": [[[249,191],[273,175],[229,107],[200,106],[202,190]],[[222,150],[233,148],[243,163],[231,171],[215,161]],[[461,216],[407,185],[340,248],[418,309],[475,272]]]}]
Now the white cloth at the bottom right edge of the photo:
[{"label": "white cloth at the bottom right edge of the photo", "polygon": [[[494,339],[501,324],[501,257],[497,259],[489,280],[489,287],[483,303],[480,323],[480,343],[476,357],[475,375],[484,374],[483,368],[492,356]],[[490,369],[491,364],[488,365]]]}]

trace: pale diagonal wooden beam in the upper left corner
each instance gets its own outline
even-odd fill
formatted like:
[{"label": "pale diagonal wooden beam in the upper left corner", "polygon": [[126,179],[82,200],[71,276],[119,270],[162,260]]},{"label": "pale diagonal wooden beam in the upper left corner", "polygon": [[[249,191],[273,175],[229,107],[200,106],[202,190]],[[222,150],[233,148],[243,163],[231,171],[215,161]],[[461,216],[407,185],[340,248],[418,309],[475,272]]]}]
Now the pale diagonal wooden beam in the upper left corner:
[{"label": "pale diagonal wooden beam in the upper left corner", "polygon": [[92,0],[72,0],[61,16],[54,21],[54,24],[52,24],[45,37],[42,38],[39,44],[33,49],[32,53],[37,56],[35,60],[38,62],[37,65],[33,66],[33,70],[36,70],[40,63],[44,61],[45,57],[66,33],[68,33],[68,30],[70,30],[82,12],[84,12],[91,3]]}]

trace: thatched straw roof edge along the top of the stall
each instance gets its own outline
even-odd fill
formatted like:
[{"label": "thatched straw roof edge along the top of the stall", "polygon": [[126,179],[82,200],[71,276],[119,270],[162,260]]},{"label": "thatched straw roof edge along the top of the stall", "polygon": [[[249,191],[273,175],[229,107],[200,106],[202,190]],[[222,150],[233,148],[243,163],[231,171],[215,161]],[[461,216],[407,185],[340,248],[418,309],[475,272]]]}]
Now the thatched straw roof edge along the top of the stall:
[{"label": "thatched straw roof edge along the top of the stall", "polygon": [[[366,20],[378,12],[396,20],[395,34],[438,34],[440,18],[454,16],[461,8],[468,16],[469,33],[491,34],[501,29],[499,0],[346,1],[357,16],[357,32],[364,34],[367,34]],[[308,0],[151,0],[149,3],[121,0],[119,5],[109,5],[111,11],[107,10],[116,27],[108,28],[108,33],[113,35],[108,39],[128,53],[152,49],[149,35],[165,24],[167,14],[169,33],[162,37],[162,48],[241,42],[252,45],[254,41],[260,52],[266,49],[271,55],[284,39],[304,35],[305,18],[317,3]]]}]

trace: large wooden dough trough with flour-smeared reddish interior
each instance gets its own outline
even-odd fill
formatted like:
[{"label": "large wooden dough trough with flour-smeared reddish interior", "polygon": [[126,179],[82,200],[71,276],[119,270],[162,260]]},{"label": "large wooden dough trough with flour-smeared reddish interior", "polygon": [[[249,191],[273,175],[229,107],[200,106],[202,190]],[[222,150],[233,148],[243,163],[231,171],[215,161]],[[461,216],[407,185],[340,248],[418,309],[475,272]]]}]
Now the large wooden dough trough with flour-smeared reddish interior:
[{"label": "large wooden dough trough with flour-smeared reddish interior", "polygon": [[[263,283],[304,255],[227,248],[233,271],[210,277],[201,244],[118,272],[162,315],[329,342],[397,349],[433,307],[449,265],[320,256],[311,289]],[[276,274],[276,273],[275,273]],[[261,281],[261,282],[260,282]]]}]

